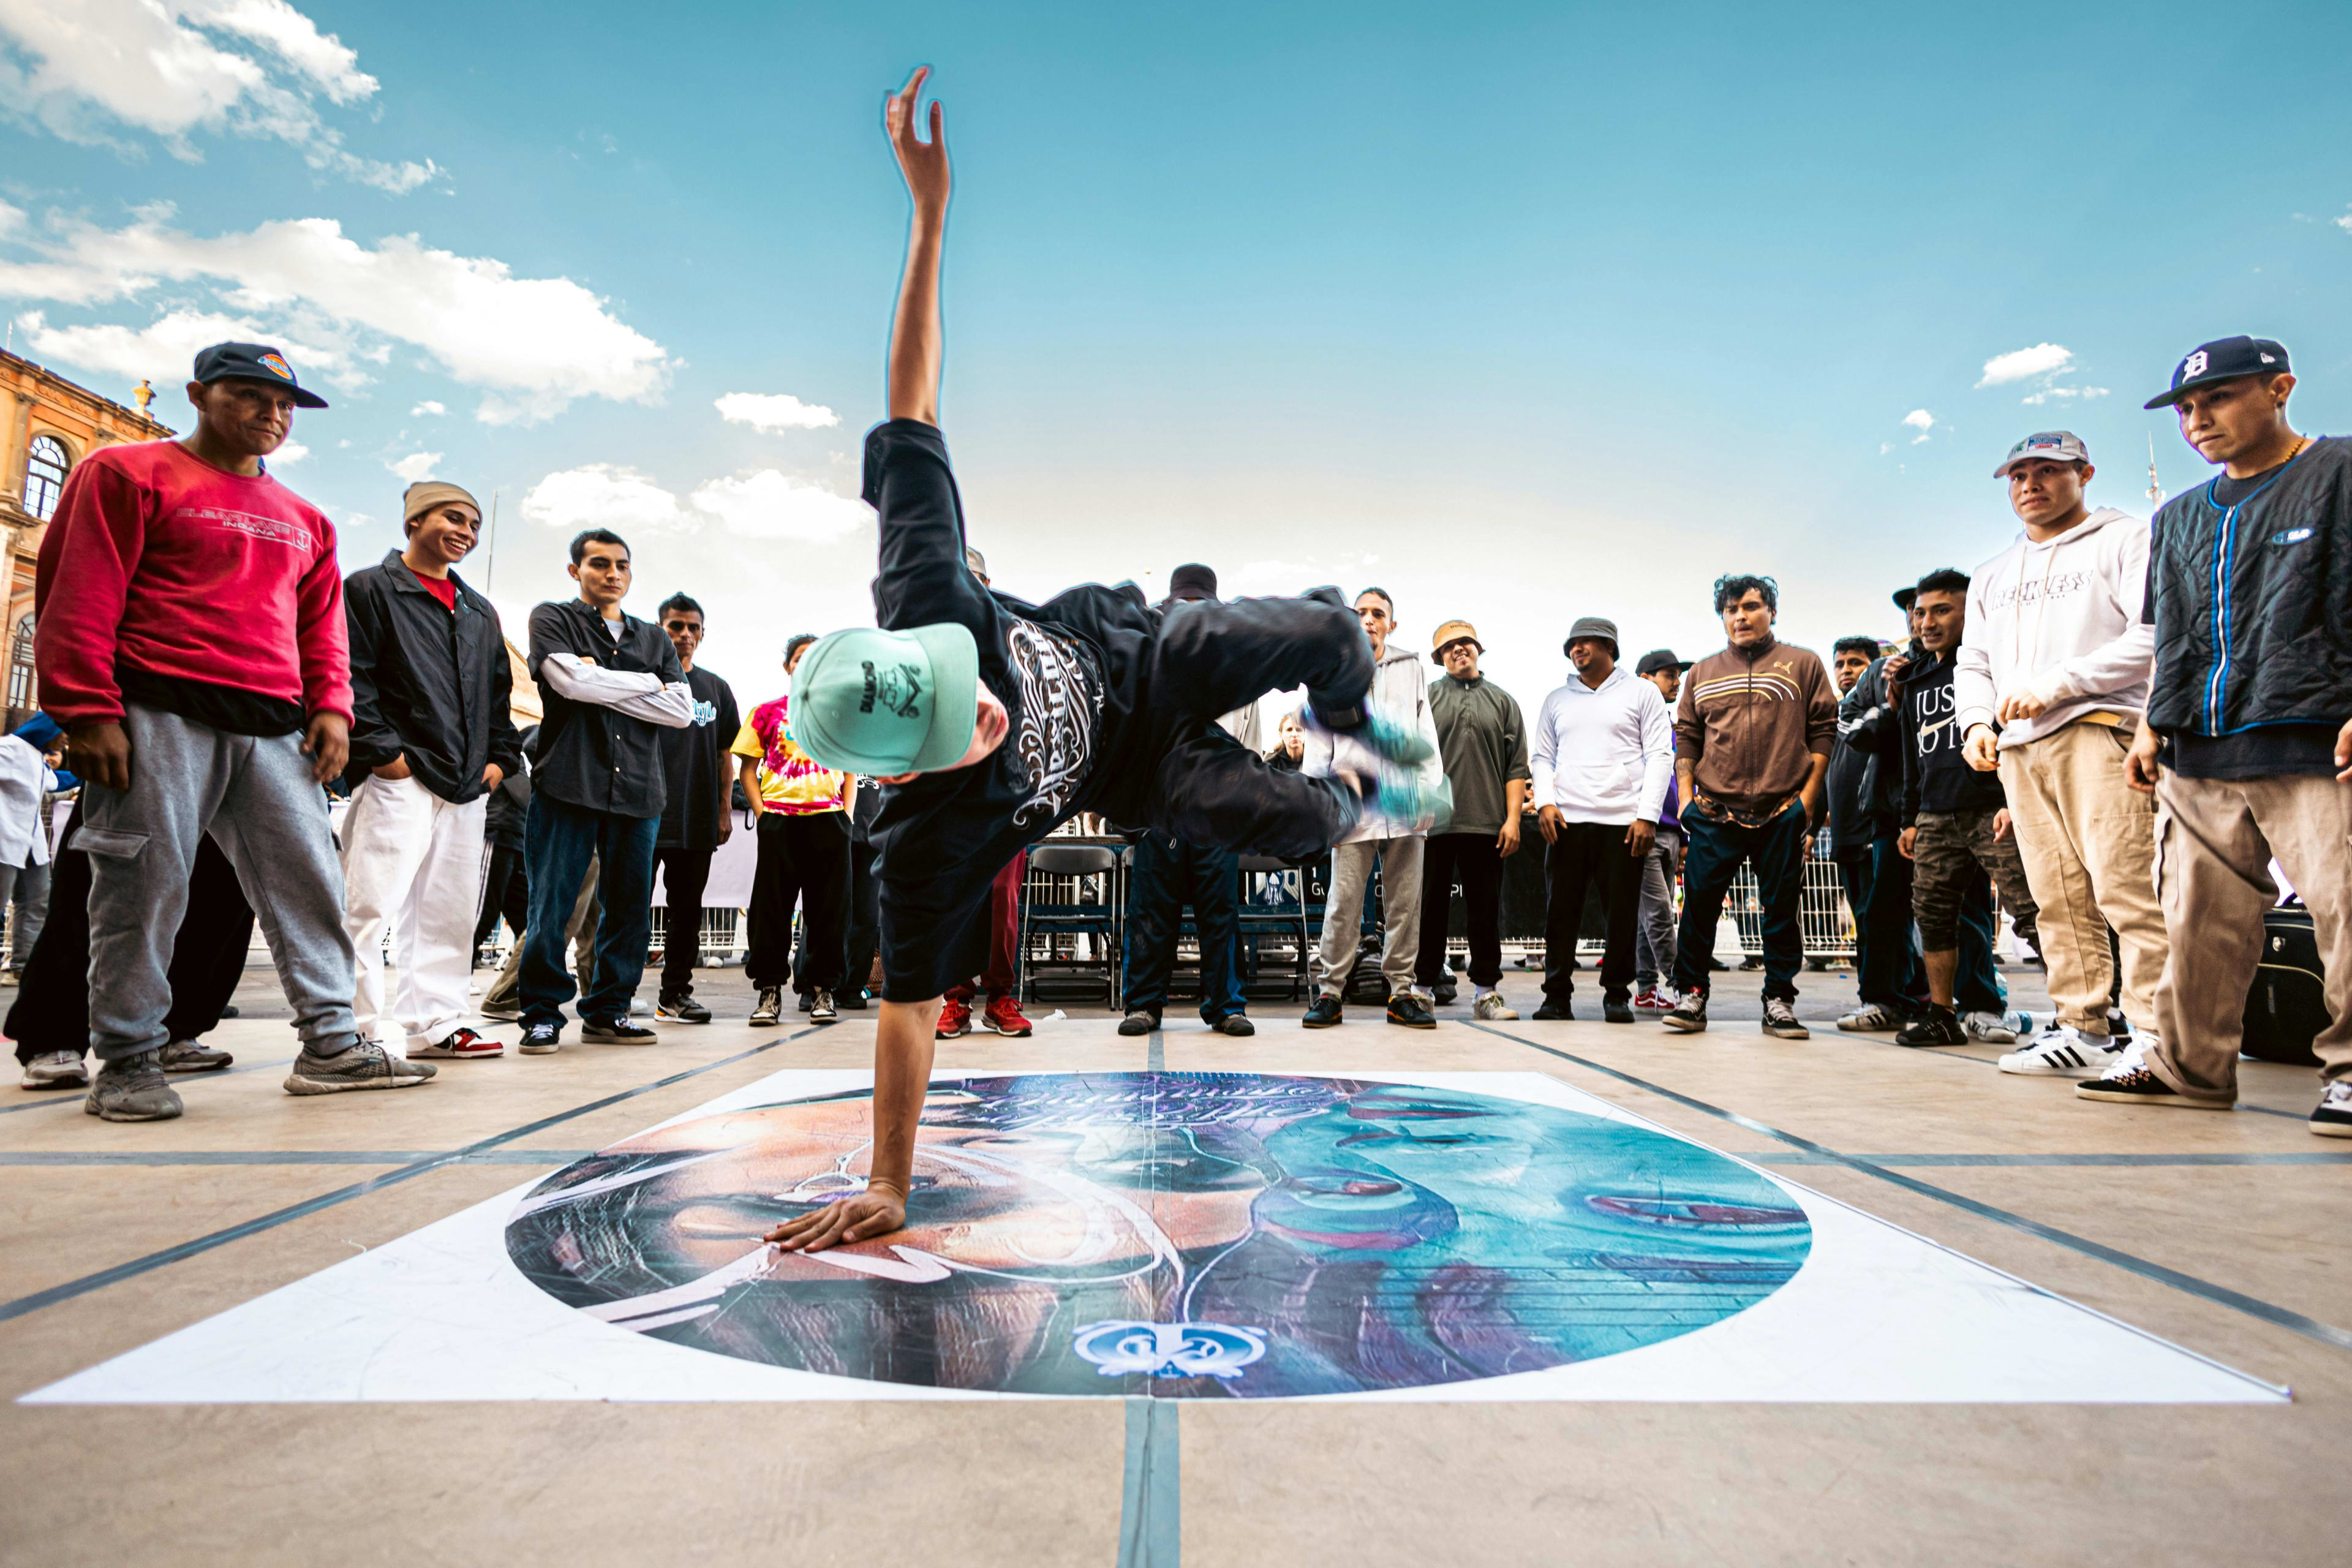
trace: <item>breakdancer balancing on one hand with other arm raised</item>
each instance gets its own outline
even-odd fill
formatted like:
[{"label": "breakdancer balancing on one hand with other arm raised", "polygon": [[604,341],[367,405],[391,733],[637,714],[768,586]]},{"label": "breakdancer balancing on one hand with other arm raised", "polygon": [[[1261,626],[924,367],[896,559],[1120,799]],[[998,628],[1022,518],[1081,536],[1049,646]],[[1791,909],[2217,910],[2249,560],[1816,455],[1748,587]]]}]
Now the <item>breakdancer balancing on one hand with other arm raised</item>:
[{"label": "breakdancer balancing on one hand with other arm raised", "polygon": [[[1025,604],[971,576],[938,435],[948,146],[938,101],[931,139],[915,129],[924,75],[884,101],[915,219],[891,322],[891,416],[866,437],[880,630],[818,639],[793,679],[793,743],[887,785],[873,825],[887,976],[873,1168],[866,1192],[767,1237],[802,1251],[906,1225],[938,999],[985,966],[988,884],[1016,851],[1101,811],[1190,844],[1305,860],[1362,816],[1411,832],[1435,813],[1411,766],[1428,743],[1371,717],[1371,642],[1338,590],[1157,611],[1134,583]],[[1331,776],[1277,773],[1216,724],[1289,686],[1308,689],[1308,724],[1338,743]]]}]

